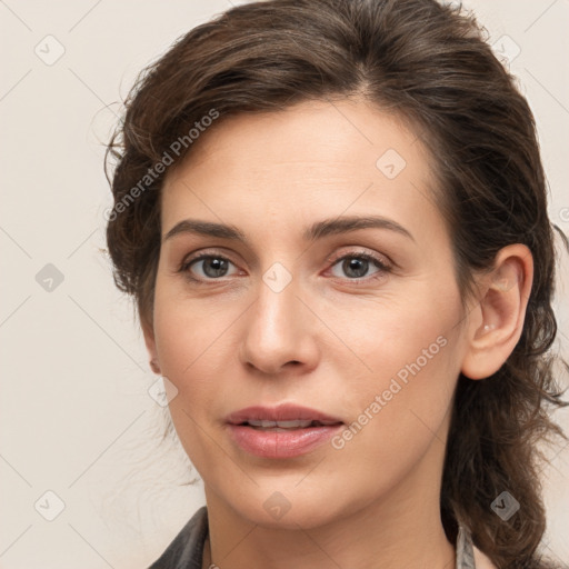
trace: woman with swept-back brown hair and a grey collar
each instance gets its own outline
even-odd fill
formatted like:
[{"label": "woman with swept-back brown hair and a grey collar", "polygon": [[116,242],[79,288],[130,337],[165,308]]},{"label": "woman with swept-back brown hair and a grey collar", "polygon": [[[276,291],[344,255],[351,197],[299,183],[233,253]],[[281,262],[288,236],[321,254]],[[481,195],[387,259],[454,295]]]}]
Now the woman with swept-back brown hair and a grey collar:
[{"label": "woman with swept-back brown hair and a grey collar", "polygon": [[431,0],[270,0],[141,76],[108,243],[207,508],[153,568],[548,567],[531,111]]}]

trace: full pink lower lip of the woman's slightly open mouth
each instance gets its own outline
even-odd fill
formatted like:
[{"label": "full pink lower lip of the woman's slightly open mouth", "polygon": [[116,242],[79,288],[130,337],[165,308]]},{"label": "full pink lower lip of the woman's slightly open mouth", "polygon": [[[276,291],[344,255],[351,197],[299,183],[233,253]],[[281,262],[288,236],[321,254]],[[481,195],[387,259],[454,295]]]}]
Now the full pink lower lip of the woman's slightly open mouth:
[{"label": "full pink lower lip of the woman's slightly open mouth", "polygon": [[308,427],[287,431],[263,431],[247,425],[229,425],[233,440],[247,452],[263,458],[306,455],[330,440],[342,425]]}]

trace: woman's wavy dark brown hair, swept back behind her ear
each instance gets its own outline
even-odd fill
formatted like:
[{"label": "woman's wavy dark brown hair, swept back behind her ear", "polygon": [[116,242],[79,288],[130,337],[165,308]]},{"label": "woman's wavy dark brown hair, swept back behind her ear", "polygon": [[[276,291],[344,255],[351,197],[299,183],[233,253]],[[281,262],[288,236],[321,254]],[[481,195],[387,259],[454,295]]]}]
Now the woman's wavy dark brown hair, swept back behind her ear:
[{"label": "woman's wavy dark brown hair, swept back behind her ear", "polygon": [[[117,162],[107,238],[117,284],[151,325],[159,164],[191,152],[190,130],[202,131],[204,117],[217,113],[219,124],[231,114],[352,96],[397,113],[432,151],[462,298],[502,247],[525,243],[533,256],[513,352],[488,380],[458,379],[440,507],[449,539],[460,522],[498,567],[546,567],[538,559],[546,521],[537,445],[562,436],[549,408],[567,405],[549,351],[553,227],[531,110],[485,40],[471,14],[435,0],[269,0],[194,28],[140,74],[126,100],[107,156]],[[505,490],[521,502],[508,521],[490,507]]]}]

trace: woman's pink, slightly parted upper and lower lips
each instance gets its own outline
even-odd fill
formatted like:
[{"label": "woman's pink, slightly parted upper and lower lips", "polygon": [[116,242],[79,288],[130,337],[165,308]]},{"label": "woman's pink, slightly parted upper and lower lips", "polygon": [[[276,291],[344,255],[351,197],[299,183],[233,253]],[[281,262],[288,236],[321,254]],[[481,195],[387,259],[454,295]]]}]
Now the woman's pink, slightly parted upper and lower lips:
[{"label": "woman's pink, slightly parted upper and lower lips", "polygon": [[227,418],[232,441],[257,457],[286,459],[307,455],[328,441],[343,421],[293,405],[248,407]]}]

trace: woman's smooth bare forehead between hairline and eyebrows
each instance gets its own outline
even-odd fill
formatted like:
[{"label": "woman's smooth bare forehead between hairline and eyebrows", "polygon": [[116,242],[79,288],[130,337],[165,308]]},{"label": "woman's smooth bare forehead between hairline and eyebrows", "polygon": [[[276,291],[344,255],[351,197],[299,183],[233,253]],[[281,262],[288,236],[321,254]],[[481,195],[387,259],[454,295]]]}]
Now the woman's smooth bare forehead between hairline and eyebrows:
[{"label": "woman's smooth bare forehead between hairline and eyebrows", "polygon": [[262,212],[287,224],[342,212],[439,216],[428,151],[369,102],[310,101],[218,121],[166,179],[164,230],[189,211],[216,221]]}]

